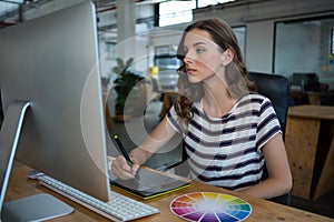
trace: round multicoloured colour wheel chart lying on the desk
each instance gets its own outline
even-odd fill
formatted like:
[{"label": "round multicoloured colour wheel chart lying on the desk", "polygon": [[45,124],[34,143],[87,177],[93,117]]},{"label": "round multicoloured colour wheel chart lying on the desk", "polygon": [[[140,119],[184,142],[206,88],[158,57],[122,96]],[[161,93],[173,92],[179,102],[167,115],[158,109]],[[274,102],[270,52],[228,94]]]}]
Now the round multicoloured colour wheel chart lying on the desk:
[{"label": "round multicoloured colour wheel chart lying on the desk", "polygon": [[235,222],[243,221],[252,212],[246,201],[223,193],[187,193],[170,202],[171,212],[187,221]]}]

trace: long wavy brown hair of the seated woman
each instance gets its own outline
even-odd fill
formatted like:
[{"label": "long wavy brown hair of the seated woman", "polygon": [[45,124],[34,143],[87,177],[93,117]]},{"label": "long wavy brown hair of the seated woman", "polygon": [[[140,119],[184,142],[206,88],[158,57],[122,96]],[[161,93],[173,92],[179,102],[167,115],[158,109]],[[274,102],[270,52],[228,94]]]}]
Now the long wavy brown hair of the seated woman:
[{"label": "long wavy brown hair of the seated woman", "polygon": [[225,68],[225,79],[228,85],[228,92],[232,98],[239,99],[249,91],[255,91],[255,84],[247,79],[247,69],[243,61],[242,51],[238,46],[238,41],[232,30],[232,28],[220,19],[212,18],[198,20],[189,24],[180,39],[177,49],[177,58],[183,61],[183,64],[178,68],[178,82],[177,87],[179,95],[175,100],[175,110],[184,124],[187,127],[193,118],[193,102],[198,102],[204,94],[202,83],[190,83],[186,73],[186,67],[184,58],[186,56],[184,51],[184,41],[186,34],[193,29],[200,29],[207,31],[213,41],[218,44],[224,52],[227,49],[233,50],[234,59]]}]

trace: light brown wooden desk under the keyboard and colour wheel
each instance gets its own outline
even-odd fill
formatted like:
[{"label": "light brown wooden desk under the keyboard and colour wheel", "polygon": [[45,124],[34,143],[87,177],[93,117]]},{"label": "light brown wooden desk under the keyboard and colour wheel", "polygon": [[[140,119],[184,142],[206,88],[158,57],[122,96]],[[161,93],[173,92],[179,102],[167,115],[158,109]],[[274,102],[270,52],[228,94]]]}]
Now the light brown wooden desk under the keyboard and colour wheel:
[{"label": "light brown wooden desk under the keyboard and colour wheel", "polygon": [[[62,200],[63,202],[68,203],[69,205],[73,206],[76,211],[67,216],[58,218],[52,221],[61,221],[61,222],[67,222],[67,221],[108,221],[104,216],[94,213],[92,211],[48,190],[45,186],[41,186],[38,184],[37,181],[27,179],[27,173],[30,169],[23,164],[16,163],[10,176],[10,182],[9,182],[9,189],[6,195],[6,201],[8,200],[16,200],[19,198],[23,198],[27,195],[32,195],[37,193],[50,193],[55,195],[56,198]],[[163,173],[163,172],[161,172]],[[173,174],[168,174],[170,176],[176,176]],[[187,179],[184,179],[187,180]],[[147,218],[143,218],[140,222],[147,222],[147,221],[155,221],[155,222],[160,222],[160,221],[183,221],[175,216],[170,210],[169,210],[169,203],[177,196],[184,194],[184,193],[189,193],[189,192],[195,192],[195,191],[210,191],[210,192],[223,192],[227,194],[233,194],[235,196],[242,198],[248,203],[250,203],[253,211],[247,219],[247,221],[252,222],[258,222],[258,221],[295,221],[295,222],[305,222],[305,221],[313,221],[313,222],[334,222],[333,219],[325,218],[318,214],[310,213],[306,211],[293,209],[289,206],[281,205],[277,203],[268,202],[262,199],[255,199],[242,193],[236,193],[232,191],[227,191],[217,186],[199,183],[199,182],[191,182],[191,186],[176,191],[174,193],[156,198],[149,201],[145,201],[145,203],[150,204],[155,208],[158,208],[160,210],[159,214],[150,215]],[[122,193],[125,194],[125,193]],[[127,194],[125,194],[127,195]],[[135,198],[136,199],[136,198]],[[138,200],[138,199],[137,199]]]}]

